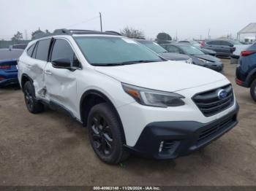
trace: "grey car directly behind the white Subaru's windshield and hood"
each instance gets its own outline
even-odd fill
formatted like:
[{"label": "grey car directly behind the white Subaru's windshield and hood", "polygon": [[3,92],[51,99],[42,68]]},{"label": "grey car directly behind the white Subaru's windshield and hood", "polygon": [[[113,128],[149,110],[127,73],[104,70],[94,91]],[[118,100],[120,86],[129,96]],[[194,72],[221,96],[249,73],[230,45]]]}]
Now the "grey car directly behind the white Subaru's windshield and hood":
[{"label": "grey car directly behind the white Subaru's windshield and hood", "polygon": [[156,42],[146,40],[146,39],[135,39],[135,41],[140,44],[145,45],[149,49],[153,50],[157,54],[161,55],[162,58],[165,58],[170,61],[184,61],[185,63],[192,63],[192,59],[187,55],[182,55],[176,52],[168,52],[163,47],[161,47]]}]

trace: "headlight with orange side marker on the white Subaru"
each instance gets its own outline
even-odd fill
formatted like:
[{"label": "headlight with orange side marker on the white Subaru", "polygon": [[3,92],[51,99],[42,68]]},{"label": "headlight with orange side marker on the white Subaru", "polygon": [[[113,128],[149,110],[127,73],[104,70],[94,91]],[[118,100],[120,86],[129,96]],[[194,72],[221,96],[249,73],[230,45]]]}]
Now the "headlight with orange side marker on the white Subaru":
[{"label": "headlight with orange side marker on the white Subaru", "polygon": [[181,98],[185,98],[178,93],[168,93],[157,90],[150,90],[134,85],[127,85],[122,83],[124,91],[132,96],[139,104],[145,106],[183,106],[185,103]]}]

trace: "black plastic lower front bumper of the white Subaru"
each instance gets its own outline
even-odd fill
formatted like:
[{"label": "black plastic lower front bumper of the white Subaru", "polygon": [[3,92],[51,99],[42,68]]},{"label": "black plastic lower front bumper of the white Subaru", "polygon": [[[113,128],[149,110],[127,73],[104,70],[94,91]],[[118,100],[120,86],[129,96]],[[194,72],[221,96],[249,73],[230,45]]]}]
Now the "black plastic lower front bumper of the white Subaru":
[{"label": "black plastic lower front bumper of the white Subaru", "polygon": [[[155,159],[172,159],[204,147],[238,124],[239,106],[208,123],[195,121],[152,122],[146,125],[130,151]],[[162,148],[160,147],[162,145]]]}]

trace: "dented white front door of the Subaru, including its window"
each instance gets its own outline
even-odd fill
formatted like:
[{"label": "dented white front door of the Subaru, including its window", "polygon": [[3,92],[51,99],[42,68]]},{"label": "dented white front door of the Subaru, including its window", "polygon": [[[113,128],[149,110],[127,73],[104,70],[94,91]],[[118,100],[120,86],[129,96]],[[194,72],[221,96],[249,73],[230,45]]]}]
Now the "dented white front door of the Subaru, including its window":
[{"label": "dented white front door of the Subaru, including its window", "polygon": [[69,59],[75,68],[80,67],[78,58],[67,39],[54,39],[50,59],[45,67],[46,98],[51,104],[64,106],[67,111],[76,115],[78,111],[77,102],[77,80],[78,70],[54,68],[52,61]]}]

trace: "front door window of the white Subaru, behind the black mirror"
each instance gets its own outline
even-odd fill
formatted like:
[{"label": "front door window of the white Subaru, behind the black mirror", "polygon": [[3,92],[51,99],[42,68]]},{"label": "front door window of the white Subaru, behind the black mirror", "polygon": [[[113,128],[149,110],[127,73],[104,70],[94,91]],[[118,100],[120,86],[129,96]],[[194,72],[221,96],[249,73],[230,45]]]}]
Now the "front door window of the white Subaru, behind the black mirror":
[{"label": "front door window of the white Subaru, behind the black mirror", "polygon": [[56,61],[58,59],[69,59],[73,67],[79,67],[80,63],[72,50],[72,47],[64,39],[56,39],[53,44],[53,50],[51,53],[50,61]]}]

